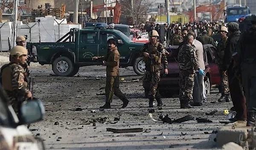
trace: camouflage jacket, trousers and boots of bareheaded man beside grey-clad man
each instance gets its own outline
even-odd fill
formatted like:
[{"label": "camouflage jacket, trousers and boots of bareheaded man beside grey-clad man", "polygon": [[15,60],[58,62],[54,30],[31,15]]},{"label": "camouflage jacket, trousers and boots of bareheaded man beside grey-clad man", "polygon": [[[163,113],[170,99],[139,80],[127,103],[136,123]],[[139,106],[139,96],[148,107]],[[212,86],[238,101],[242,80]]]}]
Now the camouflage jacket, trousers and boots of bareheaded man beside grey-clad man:
[{"label": "camouflage jacket, trousers and boots of bareheaded man beside grey-clad man", "polygon": [[180,108],[186,108],[189,101],[193,100],[193,88],[195,71],[199,69],[196,59],[195,47],[184,44],[178,52],[178,63],[180,69]]}]

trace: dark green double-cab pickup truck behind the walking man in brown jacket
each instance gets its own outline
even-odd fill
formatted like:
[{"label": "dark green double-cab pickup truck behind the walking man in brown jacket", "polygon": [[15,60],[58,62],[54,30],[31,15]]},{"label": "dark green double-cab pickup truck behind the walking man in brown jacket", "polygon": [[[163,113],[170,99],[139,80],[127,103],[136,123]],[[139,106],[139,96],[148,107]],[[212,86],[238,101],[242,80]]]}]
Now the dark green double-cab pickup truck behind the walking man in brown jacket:
[{"label": "dark green double-cab pickup truck behind the walking man in brown jacket", "polygon": [[79,67],[102,65],[92,60],[108,53],[108,39],[116,40],[120,53],[120,67],[133,66],[138,75],[143,75],[145,64],[139,51],[143,43],[135,43],[121,31],[112,28],[72,28],[57,42],[27,43],[31,62],[51,64],[57,76],[74,76]]}]

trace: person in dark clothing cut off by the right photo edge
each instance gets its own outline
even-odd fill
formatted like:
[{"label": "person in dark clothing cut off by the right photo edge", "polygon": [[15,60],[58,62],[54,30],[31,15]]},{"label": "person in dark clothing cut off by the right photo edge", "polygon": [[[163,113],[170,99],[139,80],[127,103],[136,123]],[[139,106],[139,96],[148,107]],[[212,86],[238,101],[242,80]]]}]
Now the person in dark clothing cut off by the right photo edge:
[{"label": "person in dark clothing cut off by the right photo edge", "polygon": [[[251,28],[239,37],[235,55],[236,65],[241,74],[247,107],[247,126],[256,126],[256,16],[247,18]],[[246,19],[246,20],[247,20]],[[233,54],[234,55],[234,54]]]}]

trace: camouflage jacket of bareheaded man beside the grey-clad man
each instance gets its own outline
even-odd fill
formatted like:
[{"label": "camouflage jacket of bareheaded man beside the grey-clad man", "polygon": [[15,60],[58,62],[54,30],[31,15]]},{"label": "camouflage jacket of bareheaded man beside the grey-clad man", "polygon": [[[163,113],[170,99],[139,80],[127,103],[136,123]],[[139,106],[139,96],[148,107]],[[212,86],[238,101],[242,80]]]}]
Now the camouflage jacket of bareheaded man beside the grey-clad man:
[{"label": "camouflage jacket of bareheaded man beside the grey-clad man", "polygon": [[198,60],[196,59],[195,47],[184,44],[178,52],[178,63],[180,71],[189,71],[194,73],[199,69]]}]

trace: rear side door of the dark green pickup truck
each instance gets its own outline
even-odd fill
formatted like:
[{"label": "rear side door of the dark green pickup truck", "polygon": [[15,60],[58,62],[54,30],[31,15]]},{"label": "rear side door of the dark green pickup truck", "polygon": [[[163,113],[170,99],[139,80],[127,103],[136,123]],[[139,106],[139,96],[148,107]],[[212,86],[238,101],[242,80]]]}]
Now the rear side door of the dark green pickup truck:
[{"label": "rear side door of the dark green pickup truck", "polygon": [[98,31],[81,31],[79,37],[79,62],[92,62],[98,56]]}]

